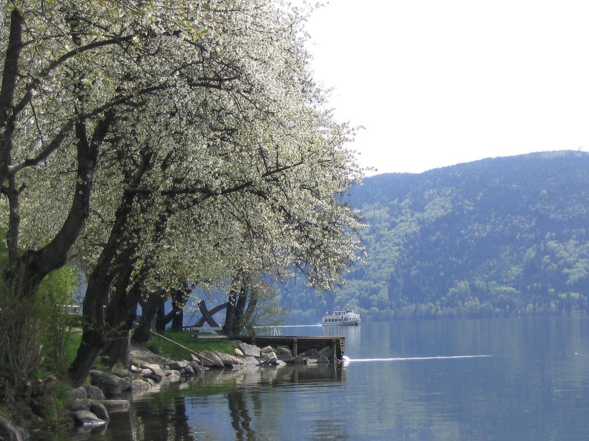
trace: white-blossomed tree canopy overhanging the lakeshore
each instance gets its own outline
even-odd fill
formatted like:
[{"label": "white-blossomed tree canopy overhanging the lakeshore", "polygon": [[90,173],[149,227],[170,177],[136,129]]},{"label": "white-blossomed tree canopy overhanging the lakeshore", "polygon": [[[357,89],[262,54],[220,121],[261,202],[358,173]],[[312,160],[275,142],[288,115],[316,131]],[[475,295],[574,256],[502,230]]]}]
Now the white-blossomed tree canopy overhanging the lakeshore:
[{"label": "white-blossomed tree canopy overhanging the lakeshore", "polygon": [[27,301],[75,259],[83,348],[100,350],[158,289],[293,268],[330,289],[358,259],[342,203],[361,177],[353,130],[325,110],[302,12],[9,0],[0,14],[4,276]]}]

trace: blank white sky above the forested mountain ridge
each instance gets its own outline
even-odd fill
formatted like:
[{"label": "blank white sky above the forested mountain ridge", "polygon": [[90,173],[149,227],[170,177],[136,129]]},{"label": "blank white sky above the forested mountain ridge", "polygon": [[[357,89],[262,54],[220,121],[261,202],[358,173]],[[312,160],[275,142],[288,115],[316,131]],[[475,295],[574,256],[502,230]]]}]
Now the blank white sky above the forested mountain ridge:
[{"label": "blank white sky above the forested mountain ridge", "polygon": [[588,1],[332,0],[306,28],[373,175],[589,149],[588,19]]}]

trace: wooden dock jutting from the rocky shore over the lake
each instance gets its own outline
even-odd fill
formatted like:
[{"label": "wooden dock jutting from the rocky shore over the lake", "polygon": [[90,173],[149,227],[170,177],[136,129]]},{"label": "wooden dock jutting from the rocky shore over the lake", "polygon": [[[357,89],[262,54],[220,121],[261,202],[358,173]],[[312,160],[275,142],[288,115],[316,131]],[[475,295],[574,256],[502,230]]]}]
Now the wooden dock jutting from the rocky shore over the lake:
[{"label": "wooden dock jutting from the rocky shore over the lake", "polygon": [[[241,340],[244,343],[249,343],[250,345],[260,346],[263,348],[264,346],[272,346],[272,348],[276,348],[276,346],[287,346],[290,350],[292,350],[293,355],[296,355],[301,352],[305,352],[309,349],[323,349],[326,346],[332,348],[333,357],[337,360],[341,360],[343,356],[343,350],[346,345],[346,338],[342,335],[329,335],[329,336],[320,336],[320,337],[299,337],[299,336],[236,336],[231,337],[231,339]],[[333,361],[333,359],[332,359]]]}]

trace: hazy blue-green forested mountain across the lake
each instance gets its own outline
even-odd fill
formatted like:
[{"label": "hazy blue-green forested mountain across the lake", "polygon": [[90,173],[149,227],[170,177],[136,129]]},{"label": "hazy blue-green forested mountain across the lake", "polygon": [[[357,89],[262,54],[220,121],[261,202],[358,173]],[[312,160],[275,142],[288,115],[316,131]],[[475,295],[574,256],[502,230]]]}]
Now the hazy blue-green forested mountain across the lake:
[{"label": "hazy blue-green forested mountain across the lake", "polygon": [[291,322],[350,302],[365,318],[532,315],[589,309],[589,154],[531,153],[352,189],[366,265],[336,294],[282,290]]}]

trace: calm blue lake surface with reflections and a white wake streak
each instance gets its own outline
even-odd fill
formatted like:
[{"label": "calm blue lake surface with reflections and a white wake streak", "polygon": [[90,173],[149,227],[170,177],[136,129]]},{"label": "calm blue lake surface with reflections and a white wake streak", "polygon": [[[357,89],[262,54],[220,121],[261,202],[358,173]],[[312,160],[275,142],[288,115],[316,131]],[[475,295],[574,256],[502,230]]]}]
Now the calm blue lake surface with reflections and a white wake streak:
[{"label": "calm blue lake surface with reflections and a white wake streak", "polygon": [[136,396],[103,433],[71,439],[589,437],[589,318],[363,322],[283,335],[345,335],[352,361],[207,372]]}]

